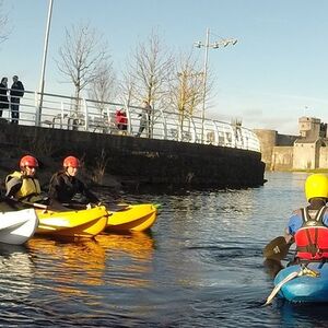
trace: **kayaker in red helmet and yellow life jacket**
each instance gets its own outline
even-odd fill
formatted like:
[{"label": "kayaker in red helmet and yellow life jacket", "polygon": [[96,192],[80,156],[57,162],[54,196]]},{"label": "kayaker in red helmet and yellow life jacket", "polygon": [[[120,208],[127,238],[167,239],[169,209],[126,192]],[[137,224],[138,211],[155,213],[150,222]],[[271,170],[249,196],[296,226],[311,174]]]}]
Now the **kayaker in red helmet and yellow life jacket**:
[{"label": "kayaker in red helmet and yellow life jacket", "polygon": [[20,160],[21,172],[13,172],[5,177],[5,196],[22,202],[45,202],[40,185],[36,178],[38,162],[34,156],[25,155]]}]

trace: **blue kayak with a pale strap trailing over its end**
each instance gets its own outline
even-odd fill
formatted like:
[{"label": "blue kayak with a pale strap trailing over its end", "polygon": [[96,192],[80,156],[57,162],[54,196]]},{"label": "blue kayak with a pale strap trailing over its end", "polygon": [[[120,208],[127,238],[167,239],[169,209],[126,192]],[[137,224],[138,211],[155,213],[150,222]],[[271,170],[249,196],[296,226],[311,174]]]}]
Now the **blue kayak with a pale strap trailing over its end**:
[{"label": "blue kayak with a pale strap trailing over its end", "polygon": [[328,261],[286,267],[274,278],[279,283],[279,296],[290,302],[328,302]]}]

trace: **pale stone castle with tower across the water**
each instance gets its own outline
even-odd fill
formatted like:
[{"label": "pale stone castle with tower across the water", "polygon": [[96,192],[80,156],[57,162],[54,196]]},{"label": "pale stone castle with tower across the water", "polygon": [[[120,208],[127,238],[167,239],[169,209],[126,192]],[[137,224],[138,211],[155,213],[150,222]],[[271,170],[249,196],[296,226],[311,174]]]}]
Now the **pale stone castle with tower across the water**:
[{"label": "pale stone castle with tower across the water", "polygon": [[257,129],[267,171],[328,168],[327,124],[314,117],[298,119],[300,136]]}]

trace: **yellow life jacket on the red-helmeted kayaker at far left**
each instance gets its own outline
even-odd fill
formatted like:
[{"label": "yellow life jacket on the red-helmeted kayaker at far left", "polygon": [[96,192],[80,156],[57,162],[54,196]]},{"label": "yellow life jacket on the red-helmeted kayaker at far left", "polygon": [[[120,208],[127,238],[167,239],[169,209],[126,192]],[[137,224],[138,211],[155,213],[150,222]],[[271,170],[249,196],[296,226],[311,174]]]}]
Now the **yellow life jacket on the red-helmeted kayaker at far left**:
[{"label": "yellow life jacket on the red-helmeted kayaker at far left", "polygon": [[17,200],[27,200],[31,202],[37,202],[43,199],[40,196],[40,186],[39,181],[36,178],[33,178],[31,176],[26,177],[23,176],[21,172],[14,172],[7,176],[5,184],[11,179],[16,178],[22,180],[21,189],[15,194],[15,198]]}]

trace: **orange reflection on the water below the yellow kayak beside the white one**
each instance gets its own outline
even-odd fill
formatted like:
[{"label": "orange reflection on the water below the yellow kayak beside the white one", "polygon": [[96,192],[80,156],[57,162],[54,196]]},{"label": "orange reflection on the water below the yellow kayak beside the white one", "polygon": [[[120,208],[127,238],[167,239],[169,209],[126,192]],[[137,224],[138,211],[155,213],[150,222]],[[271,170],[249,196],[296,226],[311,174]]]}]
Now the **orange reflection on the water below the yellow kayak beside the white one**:
[{"label": "orange reflection on the water below the yellow kayak beside the white one", "polygon": [[38,277],[49,280],[61,293],[85,294],[87,289],[79,285],[104,283],[105,250],[93,239],[62,243],[48,238],[33,238],[27,243],[38,268]]}]

